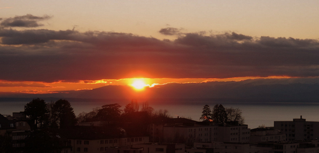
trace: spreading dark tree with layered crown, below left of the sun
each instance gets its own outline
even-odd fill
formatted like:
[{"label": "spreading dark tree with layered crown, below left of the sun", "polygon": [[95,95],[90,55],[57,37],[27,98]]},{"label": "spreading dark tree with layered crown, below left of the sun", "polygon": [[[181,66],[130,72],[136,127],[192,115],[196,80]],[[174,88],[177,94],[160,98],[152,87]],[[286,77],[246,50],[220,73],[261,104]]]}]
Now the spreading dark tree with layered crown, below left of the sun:
[{"label": "spreading dark tree with layered crown, below left of the sun", "polygon": [[102,108],[98,110],[96,117],[101,121],[118,121],[122,112],[120,108],[121,105],[119,104],[103,105]]}]

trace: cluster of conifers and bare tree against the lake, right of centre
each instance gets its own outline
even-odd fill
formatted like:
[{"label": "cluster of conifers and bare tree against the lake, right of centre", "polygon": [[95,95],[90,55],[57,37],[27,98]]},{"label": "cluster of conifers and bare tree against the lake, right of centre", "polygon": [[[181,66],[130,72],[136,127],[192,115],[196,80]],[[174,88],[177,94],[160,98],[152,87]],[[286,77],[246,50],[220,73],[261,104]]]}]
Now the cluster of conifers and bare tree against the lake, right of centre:
[{"label": "cluster of conifers and bare tree against the lake, right of centre", "polygon": [[213,110],[205,105],[200,120],[214,122],[215,124],[224,124],[227,121],[237,121],[243,124],[245,121],[239,108],[224,108],[221,104],[216,104]]}]

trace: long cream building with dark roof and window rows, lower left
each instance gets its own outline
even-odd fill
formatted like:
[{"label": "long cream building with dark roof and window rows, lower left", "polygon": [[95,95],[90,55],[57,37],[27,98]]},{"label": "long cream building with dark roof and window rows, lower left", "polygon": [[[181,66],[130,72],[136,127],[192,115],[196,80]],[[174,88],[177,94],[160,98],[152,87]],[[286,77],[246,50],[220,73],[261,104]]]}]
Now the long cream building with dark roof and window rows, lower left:
[{"label": "long cream building with dark roof and window rows, lower left", "polygon": [[134,143],[148,143],[148,136],[127,135],[117,128],[80,127],[60,130],[72,146],[72,153],[105,152],[108,148],[130,148]]}]

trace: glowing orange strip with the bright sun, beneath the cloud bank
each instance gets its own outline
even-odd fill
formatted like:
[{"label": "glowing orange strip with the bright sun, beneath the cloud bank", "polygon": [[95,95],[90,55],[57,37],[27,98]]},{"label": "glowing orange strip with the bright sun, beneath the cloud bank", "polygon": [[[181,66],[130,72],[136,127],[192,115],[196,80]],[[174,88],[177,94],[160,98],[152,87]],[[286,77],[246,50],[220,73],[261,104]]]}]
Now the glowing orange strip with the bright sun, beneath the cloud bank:
[{"label": "glowing orange strip with the bright sun, beneath the cloud bank", "polygon": [[64,93],[69,90],[92,90],[99,87],[108,85],[123,85],[132,86],[137,91],[145,87],[154,87],[156,85],[164,85],[168,83],[201,83],[209,81],[241,81],[247,79],[281,79],[291,78],[288,76],[269,76],[269,77],[238,77],[238,78],[225,78],[225,79],[207,79],[207,78],[127,78],[120,80],[79,80],[76,82],[57,81],[57,82],[35,82],[35,81],[6,81],[0,80],[0,92],[17,92],[28,94],[48,94],[48,93]]}]

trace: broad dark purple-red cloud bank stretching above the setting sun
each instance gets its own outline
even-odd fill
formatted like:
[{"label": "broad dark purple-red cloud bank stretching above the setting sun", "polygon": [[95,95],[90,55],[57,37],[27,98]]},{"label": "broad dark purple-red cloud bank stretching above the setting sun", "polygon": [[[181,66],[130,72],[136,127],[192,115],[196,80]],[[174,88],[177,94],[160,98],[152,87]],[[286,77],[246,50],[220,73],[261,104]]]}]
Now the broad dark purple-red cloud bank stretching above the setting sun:
[{"label": "broad dark purple-red cloud bank stretching above the setting sun", "polygon": [[[315,39],[198,32],[159,40],[106,31],[9,28],[21,17],[0,20],[0,80],[319,76]],[[33,27],[49,18],[29,15],[19,25]]]}]

